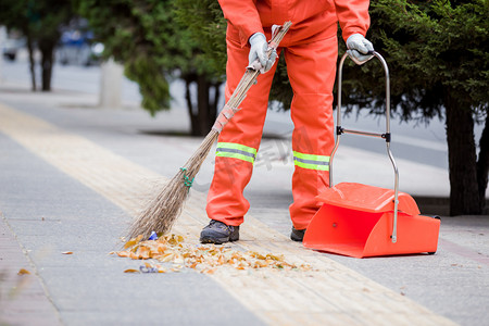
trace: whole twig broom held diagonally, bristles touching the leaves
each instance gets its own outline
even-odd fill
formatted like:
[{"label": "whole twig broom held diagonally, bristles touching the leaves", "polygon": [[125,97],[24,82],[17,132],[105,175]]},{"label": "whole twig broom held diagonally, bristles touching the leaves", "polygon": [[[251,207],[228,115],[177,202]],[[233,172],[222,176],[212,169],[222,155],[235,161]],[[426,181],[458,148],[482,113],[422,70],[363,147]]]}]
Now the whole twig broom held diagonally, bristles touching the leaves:
[{"label": "whole twig broom held diagonally, bristles touching the leaves", "polygon": [[[291,25],[291,22],[286,22],[283,26],[276,26],[277,28],[273,30],[272,40],[268,42],[267,49],[268,58],[276,50]],[[258,61],[252,66],[247,67],[243,77],[224,105],[211,131],[193,155],[185,163],[184,167],[180,167],[179,172],[168,183],[163,185],[158,196],[148,201],[147,206],[130,226],[128,233],[129,238],[142,235],[142,239],[148,239],[152,231],[167,234],[171,230],[181,212],[184,202],[187,199],[193,178],[199,173],[200,166],[208,156],[212,145],[217,140],[225,124],[239,110],[238,106],[244,100],[250,87],[256,84],[260,67],[261,65]]]}]

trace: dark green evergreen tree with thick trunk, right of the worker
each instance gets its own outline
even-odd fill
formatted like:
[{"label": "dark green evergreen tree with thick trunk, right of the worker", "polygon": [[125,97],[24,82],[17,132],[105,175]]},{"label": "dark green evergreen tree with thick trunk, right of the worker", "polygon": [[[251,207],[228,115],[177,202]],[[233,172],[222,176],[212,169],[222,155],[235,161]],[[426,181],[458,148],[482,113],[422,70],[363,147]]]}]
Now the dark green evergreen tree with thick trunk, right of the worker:
[{"label": "dark green evergreen tree with thick trunk, right of the worker", "polygon": [[[451,215],[481,214],[489,166],[489,2],[378,0],[371,16],[369,38],[392,75],[392,106],[405,121],[446,121]],[[374,65],[363,71],[367,79],[351,70],[344,92],[378,113],[384,96],[375,80],[383,72]],[[484,125],[478,153],[476,123]]]}]

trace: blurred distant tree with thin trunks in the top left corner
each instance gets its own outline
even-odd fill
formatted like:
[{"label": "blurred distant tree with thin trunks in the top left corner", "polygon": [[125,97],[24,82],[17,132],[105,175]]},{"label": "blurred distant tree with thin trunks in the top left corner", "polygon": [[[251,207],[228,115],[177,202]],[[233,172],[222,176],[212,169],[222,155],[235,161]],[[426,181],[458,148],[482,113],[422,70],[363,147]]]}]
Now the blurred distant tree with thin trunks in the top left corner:
[{"label": "blurred distant tree with thin trunks in the top left corner", "polygon": [[54,50],[61,28],[73,18],[72,3],[63,0],[2,0],[0,25],[21,30],[27,42],[30,63],[32,89],[37,89],[34,52],[41,54],[41,89],[51,90]]}]

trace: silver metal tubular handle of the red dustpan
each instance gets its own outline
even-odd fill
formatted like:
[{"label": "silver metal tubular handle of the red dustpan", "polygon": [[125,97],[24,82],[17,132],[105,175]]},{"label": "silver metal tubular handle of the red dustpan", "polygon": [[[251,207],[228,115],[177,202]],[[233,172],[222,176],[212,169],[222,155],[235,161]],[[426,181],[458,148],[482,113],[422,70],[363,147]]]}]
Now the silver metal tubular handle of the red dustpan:
[{"label": "silver metal tubular handle of the red dustpan", "polygon": [[375,51],[369,52],[369,54],[376,57],[380,63],[383,64],[384,71],[386,73],[386,133],[385,134],[376,134],[368,133],[362,130],[352,130],[346,129],[341,127],[341,85],[342,85],[342,74],[343,74],[343,63],[348,57],[348,53],[344,53],[340,60],[338,66],[338,108],[337,108],[337,127],[336,127],[336,141],[335,147],[333,148],[331,154],[329,155],[329,187],[333,187],[333,159],[335,158],[336,151],[339,147],[340,136],[342,134],[354,134],[369,137],[378,137],[386,139],[387,154],[392,163],[394,170],[394,211],[393,211],[393,225],[392,225],[392,235],[391,240],[393,243],[398,240],[398,204],[399,204],[399,171],[398,165],[392,156],[392,152],[390,151],[390,78],[389,78],[389,67],[387,66],[384,58]]}]

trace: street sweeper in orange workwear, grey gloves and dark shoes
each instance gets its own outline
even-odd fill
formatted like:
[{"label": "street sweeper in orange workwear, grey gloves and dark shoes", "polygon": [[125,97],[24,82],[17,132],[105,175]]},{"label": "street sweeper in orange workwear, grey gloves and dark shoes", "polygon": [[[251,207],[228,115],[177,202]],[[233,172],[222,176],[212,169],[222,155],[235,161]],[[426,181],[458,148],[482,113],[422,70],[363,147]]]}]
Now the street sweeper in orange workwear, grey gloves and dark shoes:
[{"label": "street sweeper in orange workwear, grey gloves and dark shoes", "polygon": [[[243,197],[260,146],[267,111],[274,64],[285,55],[293,89],[291,117],[293,202],[291,239],[302,241],[316,213],[315,197],[329,184],[329,153],[334,147],[333,87],[338,58],[337,25],[350,57],[362,63],[372,58],[365,39],[369,26],[367,0],[220,0],[227,20],[226,102],[246,67],[259,60],[262,73],[240,111],[223,128],[216,149],[215,171],[208,195],[211,218],[202,229],[202,243],[239,239],[239,225],[250,204]],[[277,53],[266,55],[272,26],[291,21]]]}]

